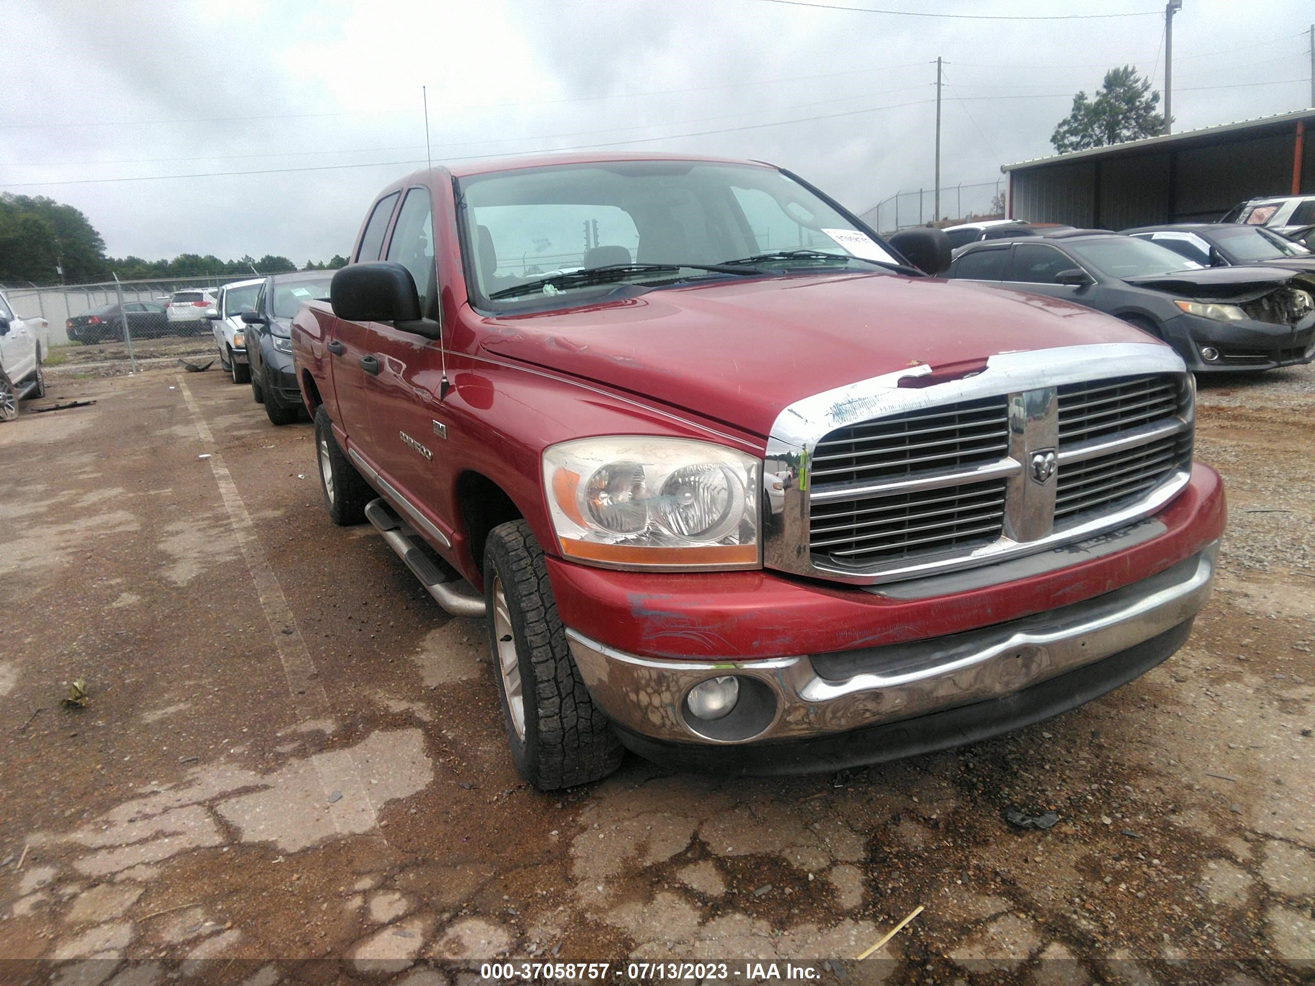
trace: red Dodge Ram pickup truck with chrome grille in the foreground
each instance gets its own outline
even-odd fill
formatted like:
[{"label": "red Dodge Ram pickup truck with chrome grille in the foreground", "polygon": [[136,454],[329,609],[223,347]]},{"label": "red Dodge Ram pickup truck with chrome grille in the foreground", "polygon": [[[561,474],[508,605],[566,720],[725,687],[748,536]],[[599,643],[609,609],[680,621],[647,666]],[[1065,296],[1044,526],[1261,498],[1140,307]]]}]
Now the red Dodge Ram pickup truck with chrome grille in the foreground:
[{"label": "red Dodge Ram pickup truck with chrome grille in the foreground", "polygon": [[767,164],[573,155],[385,188],[292,327],[325,504],[483,617],[517,769],[968,743],[1186,640],[1224,527],[1168,346],[927,276]]}]

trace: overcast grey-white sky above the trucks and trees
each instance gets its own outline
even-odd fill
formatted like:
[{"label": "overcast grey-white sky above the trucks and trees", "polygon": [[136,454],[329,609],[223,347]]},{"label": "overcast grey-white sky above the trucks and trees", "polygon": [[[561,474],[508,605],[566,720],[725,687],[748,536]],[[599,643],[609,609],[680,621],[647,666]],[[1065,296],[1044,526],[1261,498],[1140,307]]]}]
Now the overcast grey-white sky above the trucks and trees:
[{"label": "overcast grey-white sky above the trucks and trees", "polygon": [[[815,1],[993,17],[1152,13],[7,0],[0,188],[76,205],[114,256],[272,252],[300,264],[346,254],[375,192],[423,163],[422,84],[435,162],[589,145],[755,158],[860,212],[897,189],[931,188],[938,55],[947,188],[993,183],[1002,163],[1049,154],[1072,95],[1093,92],[1111,66],[1132,63],[1164,84],[1161,0]],[[1185,0],[1176,129],[1306,106],[1311,13],[1302,0]],[[1268,84],[1281,80],[1295,82]],[[333,167],[343,164],[362,167]],[[323,170],[195,176],[312,167]],[[88,183],[162,175],[193,176]],[[20,184],[66,181],[80,184]],[[965,195],[964,209],[978,200]],[[945,205],[953,210],[952,191]]]}]

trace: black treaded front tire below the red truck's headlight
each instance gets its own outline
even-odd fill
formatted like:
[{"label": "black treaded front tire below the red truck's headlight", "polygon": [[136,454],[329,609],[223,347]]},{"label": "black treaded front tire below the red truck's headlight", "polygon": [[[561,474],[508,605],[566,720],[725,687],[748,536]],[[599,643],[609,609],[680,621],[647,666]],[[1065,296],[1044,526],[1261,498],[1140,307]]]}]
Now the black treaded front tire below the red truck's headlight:
[{"label": "black treaded front tire below the red truck's headlight", "polygon": [[[494,581],[504,589],[515,642],[525,702],[523,739],[513,726],[498,670]],[[540,791],[551,791],[598,781],[615,770],[625,751],[571,657],[543,548],[525,521],[512,521],[489,532],[484,550],[484,601],[493,677],[517,773]]]}]

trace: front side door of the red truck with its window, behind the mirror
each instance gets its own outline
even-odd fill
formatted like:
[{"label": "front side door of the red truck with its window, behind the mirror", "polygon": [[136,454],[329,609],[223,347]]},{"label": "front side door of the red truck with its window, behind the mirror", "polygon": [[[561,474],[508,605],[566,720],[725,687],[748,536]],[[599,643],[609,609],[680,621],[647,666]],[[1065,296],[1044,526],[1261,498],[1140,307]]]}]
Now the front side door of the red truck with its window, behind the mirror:
[{"label": "front side door of the red truck with its window, behind the mirror", "polygon": [[[406,191],[384,259],[410,271],[419,293],[421,313],[437,319],[438,267],[427,188]],[[434,496],[435,490],[447,489],[452,481],[438,404],[443,376],[441,343],[375,322],[371,325],[371,346],[377,372],[366,376],[366,388],[370,392],[370,425],[377,468],[412,509],[441,531],[446,542],[442,547],[447,547],[452,518],[438,513],[438,497]],[[433,531],[427,532],[433,538]]]}]

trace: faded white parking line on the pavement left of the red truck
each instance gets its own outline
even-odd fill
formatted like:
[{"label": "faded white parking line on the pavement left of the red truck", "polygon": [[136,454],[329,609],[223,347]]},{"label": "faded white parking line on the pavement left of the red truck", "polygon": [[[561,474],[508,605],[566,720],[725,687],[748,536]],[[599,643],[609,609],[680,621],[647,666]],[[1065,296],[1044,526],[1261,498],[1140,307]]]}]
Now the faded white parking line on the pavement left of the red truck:
[{"label": "faded white parking line on the pavement left of the red truck", "polygon": [[[192,413],[196,434],[201,436],[203,442],[213,446],[214,435],[210,433],[210,426],[205,422],[205,417],[201,414],[201,409],[197,406],[196,398],[192,397],[192,390],[188,388],[181,373],[178,377],[178,387],[183,392],[183,400],[187,401],[188,410]],[[224,456],[218,451],[210,452],[210,458],[206,461],[209,461],[210,472],[214,473],[214,481],[220,486],[224,509],[229,513],[233,534],[242,548],[242,557],[246,560],[251,581],[255,584],[256,598],[260,601],[264,619],[270,624],[274,647],[279,653],[279,660],[283,663],[283,673],[288,681],[288,692],[292,695],[292,707],[302,723],[313,719],[327,719],[329,695],[320,682],[320,672],[316,668],[314,659],[312,659],[310,652],[306,649],[305,640],[301,639],[301,630],[292,615],[292,607],[288,606],[288,598],[283,594],[283,586],[279,585],[279,577],[274,573],[274,568],[270,565],[268,557],[266,557],[264,548],[260,547],[260,539],[256,536],[255,525],[251,523],[251,514],[247,513],[242,494],[238,493],[237,484],[233,482],[233,476],[229,473],[229,467],[224,464]],[[343,752],[347,756],[348,766],[343,773],[337,774],[337,784],[330,784],[323,773],[320,773],[320,782],[325,789],[326,803],[329,803],[327,799],[334,793],[341,793],[342,798],[333,805],[333,809],[337,809],[337,805],[342,802],[347,802],[345,806],[347,810],[352,806],[364,805],[371,810],[372,816],[377,818],[375,805],[370,799],[370,789],[360,777],[360,769],[350,752]],[[320,772],[320,761],[312,757],[312,763],[317,764],[316,769]],[[347,787],[347,790],[342,790],[338,785]],[[338,810],[331,810],[330,815],[337,819]],[[381,832],[380,837],[384,839],[384,844],[387,845],[388,839]]]}]

